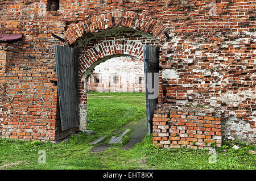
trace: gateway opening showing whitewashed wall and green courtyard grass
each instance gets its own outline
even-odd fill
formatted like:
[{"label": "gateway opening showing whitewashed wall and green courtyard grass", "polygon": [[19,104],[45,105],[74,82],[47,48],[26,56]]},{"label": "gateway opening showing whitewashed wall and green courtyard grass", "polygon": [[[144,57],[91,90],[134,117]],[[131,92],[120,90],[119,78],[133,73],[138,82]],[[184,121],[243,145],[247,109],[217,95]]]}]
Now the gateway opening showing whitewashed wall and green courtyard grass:
[{"label": "gateway opening showing whitewashed wall and green courtyard grass", "polygon": [[142,78],[143,61],[135,57],[113,57],[97,65],[86,83],[86,129],[109,134],[130,121],[145,119],[146,93]]}]

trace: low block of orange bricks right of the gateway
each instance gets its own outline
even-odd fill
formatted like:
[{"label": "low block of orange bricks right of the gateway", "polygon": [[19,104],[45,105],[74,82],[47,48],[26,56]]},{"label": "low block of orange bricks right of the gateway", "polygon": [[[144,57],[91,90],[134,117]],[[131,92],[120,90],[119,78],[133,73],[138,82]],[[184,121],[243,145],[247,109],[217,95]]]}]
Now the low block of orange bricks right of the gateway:
[{"label": "low block of orange bricks right of the gateway", "polygon": [[210,148],[221,146],[221,117],[209,111],[156,111],[153,144],[164,148]]}]

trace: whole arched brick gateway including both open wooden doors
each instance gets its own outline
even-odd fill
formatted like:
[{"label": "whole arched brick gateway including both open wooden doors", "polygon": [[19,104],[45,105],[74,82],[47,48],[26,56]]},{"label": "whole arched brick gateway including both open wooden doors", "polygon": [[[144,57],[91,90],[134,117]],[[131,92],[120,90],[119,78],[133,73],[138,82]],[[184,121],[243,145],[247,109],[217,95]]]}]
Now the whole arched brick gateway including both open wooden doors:
[{"label": "whole arched brick gateway including both open wooden doors", "polygon": [[80,131],[86,129],[85,85],[93,68],[111,57],[132,56],[141,61],[144,59],[146,86],[150,86],[146,100],[148,133],[151,133],[152,116],[158,102],[159,48],[167,39],[164,35],[167,31],[168,28],[156,20],[134,12],[93,16],[70,26],[64,32],[69,47],[55,46],[61,129],[64,131],[78,125]]}]

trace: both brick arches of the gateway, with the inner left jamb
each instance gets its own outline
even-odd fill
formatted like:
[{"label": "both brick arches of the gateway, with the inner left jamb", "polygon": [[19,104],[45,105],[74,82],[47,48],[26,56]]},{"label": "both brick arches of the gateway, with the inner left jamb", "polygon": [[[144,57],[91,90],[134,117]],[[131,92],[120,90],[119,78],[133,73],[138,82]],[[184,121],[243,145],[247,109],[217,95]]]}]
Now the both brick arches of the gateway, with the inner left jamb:
[{"label": "both brick arches of the gateway, with the inner left jamb", "polygon": [[[113,28],[129,28],[150,35],[152,39],[158,41],[158,45],[166,42],[167,36],[164,32],[170,29],[150,16],[138,14],[136,12],[109,12],[87,18],[77,24],[68,27],[64,32],[64,39],[71,46],[79,44],[80,40],[90,38],[98,32],[112,30]],[[143,61],[143,44],[132,40],[109,40],[96,43],[93,47],[86,49],[79,57],[79,123],[80,130],[86,129],[86,80],[85,72],[93,66],[99,64],[100,60],[112,56],[133,56]],[[163,47],[162,47],[163,48]],[[163,50],[163,49],[162,49]]]}]

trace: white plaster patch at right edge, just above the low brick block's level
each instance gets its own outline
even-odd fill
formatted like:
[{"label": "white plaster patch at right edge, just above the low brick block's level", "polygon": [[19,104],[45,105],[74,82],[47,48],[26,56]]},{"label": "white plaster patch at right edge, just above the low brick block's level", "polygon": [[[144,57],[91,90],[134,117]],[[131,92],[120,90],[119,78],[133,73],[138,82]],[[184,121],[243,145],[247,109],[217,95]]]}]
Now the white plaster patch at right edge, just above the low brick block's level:
[{"label": "white plaster patch at right edge, just above the low brick block's level", "polygon": [[237,106],[246,99],[255,98],[256,94],[252,90],[238,91],[237,94],[233,94],[233,91],[228,91],[226,92],[226,94],[222,95],[221,97],[218,97],[218,100],[221,100],[222,102],[232,106]]}]

